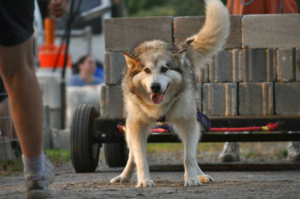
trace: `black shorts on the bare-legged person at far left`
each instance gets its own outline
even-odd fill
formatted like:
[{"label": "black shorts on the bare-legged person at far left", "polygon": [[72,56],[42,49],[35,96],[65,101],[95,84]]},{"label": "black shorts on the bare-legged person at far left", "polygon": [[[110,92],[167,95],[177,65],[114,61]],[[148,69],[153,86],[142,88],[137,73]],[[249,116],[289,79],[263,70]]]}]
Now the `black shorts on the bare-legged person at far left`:
[{"label": "black shorts on the bare-legged person at far left", "polygon": [[34,0],[0,0],[0,45],[16,46],[33,33]]}]

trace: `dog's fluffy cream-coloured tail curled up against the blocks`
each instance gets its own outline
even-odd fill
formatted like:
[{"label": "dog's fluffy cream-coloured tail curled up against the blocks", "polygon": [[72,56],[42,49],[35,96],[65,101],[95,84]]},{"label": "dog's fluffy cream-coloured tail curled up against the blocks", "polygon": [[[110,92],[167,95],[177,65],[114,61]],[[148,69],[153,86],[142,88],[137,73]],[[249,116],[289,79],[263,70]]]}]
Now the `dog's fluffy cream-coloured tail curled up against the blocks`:
[{"label": "dog's fluffy cream-coloured tail curled up against the blocks", "polygon": [[187,48],[186,55],[192,60],[196,72],[207,64],[211,57],[224,46],[229,35],[229,14],[220,0],[205,0],[206,20],[200,32],[180,43],[180,49]]}]

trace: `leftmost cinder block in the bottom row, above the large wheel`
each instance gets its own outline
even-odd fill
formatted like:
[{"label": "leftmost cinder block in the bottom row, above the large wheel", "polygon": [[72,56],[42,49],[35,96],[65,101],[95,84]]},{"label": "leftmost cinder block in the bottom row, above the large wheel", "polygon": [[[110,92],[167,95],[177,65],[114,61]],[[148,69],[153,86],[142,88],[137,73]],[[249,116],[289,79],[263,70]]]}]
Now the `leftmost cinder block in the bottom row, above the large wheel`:
[{"label": "leftmost cinder block in the bottom row, above the large wheel", "polygon": [[101,86],[100,117],[125,117],[120,85]]}]

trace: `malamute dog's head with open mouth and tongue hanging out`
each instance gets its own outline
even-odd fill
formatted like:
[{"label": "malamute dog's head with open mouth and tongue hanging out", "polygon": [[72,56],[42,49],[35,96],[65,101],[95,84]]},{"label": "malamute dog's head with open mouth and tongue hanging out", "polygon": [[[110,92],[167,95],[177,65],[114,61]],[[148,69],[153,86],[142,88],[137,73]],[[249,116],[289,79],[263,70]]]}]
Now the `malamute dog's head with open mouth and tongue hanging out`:
[{"label": "malamute dog's head with open mouth and tongue hanging out", "polygon": [[130,91],[149,104],[163,104],[182,87],[186,49],[153,40],[143,42],[133,53],[123,52]]}]

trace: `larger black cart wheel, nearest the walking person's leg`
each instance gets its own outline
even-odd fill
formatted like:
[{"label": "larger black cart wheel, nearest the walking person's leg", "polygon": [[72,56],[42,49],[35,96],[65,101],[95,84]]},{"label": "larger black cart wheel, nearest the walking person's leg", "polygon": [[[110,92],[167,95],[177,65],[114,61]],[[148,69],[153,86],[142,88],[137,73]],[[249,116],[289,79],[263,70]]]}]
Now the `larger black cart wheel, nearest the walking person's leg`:
[{"label": "larger black cart wheel, nearest the walking person's leg", "polygon": [[100,147],[95,142],[96,109],[89,104],[76,108],[71,125],[71,158],[77,173],[94,172],[98,166]]}]

